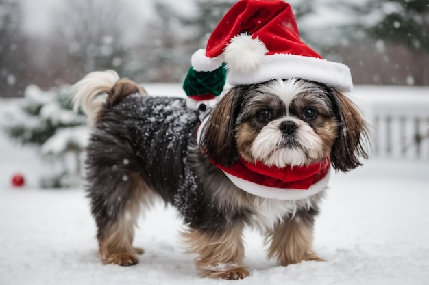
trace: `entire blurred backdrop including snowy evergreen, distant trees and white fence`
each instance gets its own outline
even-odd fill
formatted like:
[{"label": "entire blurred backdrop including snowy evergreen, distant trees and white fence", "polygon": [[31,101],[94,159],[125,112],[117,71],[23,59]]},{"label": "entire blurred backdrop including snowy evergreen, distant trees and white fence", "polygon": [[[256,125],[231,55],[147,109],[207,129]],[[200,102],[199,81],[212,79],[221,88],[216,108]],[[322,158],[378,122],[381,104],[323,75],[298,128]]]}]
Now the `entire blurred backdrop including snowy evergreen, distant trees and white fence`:
[{"label": "entire blurred backdrop including snowy evergreen, distant trees and white fence", "polygon": [[[0,0],[2,135],[57,165],[43,187],[73,185],[64,175],[80,171],[88,130],[82,113],[71,111],[70,85],[88,72],[114,69],[149,92],[167,94],[169,83],[180,92],[191,55],[235,2]],[[422,99],[429,98],[422,87],[429,85],[429,1],[289,3],[304,42],[347,64],[356,86],[384,86],[356,88],[371,97],[376,154],[429,157],[429,102]],[[397,100],[389,105],[380,94]]]}]

